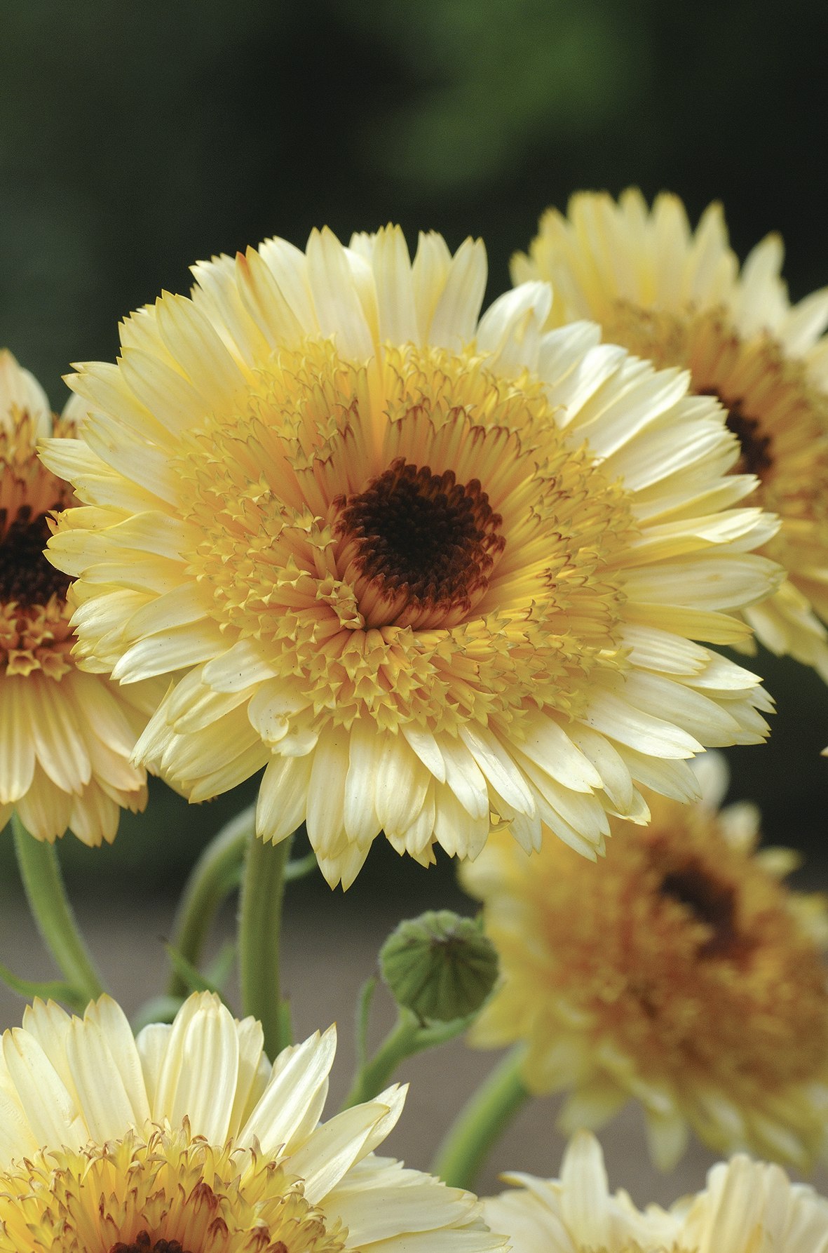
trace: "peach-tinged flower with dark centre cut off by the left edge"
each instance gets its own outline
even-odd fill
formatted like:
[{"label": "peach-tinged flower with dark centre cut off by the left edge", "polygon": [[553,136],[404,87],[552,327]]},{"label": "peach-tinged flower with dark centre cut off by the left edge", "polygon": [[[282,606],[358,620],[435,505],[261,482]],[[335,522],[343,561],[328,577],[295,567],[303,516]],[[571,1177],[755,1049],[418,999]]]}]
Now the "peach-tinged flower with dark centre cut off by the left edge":
[{"label": "peach-tinged flower with dark centre cut off by the left edge", "polygon": [[122,806],[147,801],[145,772],[129,759],[147,685],[120,689],[78,668],[69,579],[43,553],[51,512],[73,492],[36,445],[53,430],[71,444],[74,410],[53,420],[35,378],[0,352],[0,829],[16,808],[38,840],[71,827],[99,845],[114,838]]}]

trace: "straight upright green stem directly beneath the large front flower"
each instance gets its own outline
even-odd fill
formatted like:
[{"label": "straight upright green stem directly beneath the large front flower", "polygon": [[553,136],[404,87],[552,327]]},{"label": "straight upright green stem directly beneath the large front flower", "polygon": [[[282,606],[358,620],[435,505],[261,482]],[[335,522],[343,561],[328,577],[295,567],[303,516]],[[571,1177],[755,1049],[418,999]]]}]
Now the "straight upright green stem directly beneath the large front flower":
[{"label": "straight upright green stem directly beneath the large front flower", "polygon": [[279,946],[284,867],[293,837],[278,845],[252,834],[247,847],[239,910],[239,967],[242,1005],[264,1029],[268,1058],[288,1044],[283,1039],[284,1015],[279,996]]}]

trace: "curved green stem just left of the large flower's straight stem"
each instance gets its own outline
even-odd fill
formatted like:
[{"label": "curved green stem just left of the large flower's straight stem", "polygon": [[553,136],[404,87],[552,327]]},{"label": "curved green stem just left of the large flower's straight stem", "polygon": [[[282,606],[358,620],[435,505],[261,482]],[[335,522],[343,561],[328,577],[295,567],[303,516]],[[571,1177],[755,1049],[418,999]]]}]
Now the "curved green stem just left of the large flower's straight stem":
[{"label": "curved green stem just left of the large flower's straight stem", "polygon": [[[192,966],[198,966],[204,942],[223,901],[238,887],[244,851],[253,836],[256,806],[252,804],[225,823],[195,862],[175,915],[172,946]],[[173,970],[168,996],[187,996],[189,986]]]}]

